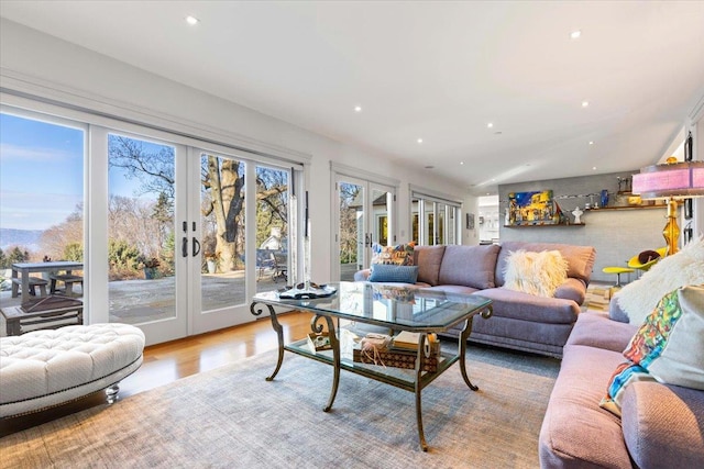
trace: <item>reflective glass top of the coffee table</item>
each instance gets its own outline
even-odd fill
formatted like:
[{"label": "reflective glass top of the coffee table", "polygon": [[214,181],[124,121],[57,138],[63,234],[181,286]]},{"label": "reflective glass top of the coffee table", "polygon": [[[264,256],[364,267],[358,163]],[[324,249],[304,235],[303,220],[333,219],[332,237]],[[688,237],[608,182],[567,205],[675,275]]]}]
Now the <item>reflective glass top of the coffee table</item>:
[{"label": "reflective glass top of the coffee table", "polygon": [[334,294],[319,299],[282,299],[279,292],[257,293],[253,303],[285,305],[322,315],[382,326],[404,326],[407,331],[442,332],[492,301],[476,294],[450,293],[413,287],[370,282],[328,283]]}]

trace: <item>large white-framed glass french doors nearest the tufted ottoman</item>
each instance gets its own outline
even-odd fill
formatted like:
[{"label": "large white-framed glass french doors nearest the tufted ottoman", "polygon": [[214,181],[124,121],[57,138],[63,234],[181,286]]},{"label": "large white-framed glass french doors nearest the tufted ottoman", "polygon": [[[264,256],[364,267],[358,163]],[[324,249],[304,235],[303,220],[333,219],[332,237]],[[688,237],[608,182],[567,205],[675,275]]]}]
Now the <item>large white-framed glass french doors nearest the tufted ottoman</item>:
[{"label": "large white-framed glass french doors nearest the tufted ottoman", "polygon": [[[91,137],[106,155],[89,178],[107,179],[94,250],[105,320],[156,344],[249,322],[249,299],[286,284],[290,168],[160,136],[92,127]],[[278,264],[260,265],[260,249]]]}]

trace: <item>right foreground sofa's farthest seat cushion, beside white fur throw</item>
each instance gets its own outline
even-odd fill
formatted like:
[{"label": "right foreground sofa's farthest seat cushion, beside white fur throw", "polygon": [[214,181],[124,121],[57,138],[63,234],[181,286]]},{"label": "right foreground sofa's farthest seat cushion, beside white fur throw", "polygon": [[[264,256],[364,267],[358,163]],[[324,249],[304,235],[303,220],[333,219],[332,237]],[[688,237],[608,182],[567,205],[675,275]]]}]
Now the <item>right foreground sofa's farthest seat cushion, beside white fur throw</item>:
[{"label": "right foreground sofa's farthest seat cushion, beside white fur throw", "polygon": [[606,313],[587,311],[580,313],[568,338],[569,345],[586,345],[620,353],[638,328],[608,319]]}]

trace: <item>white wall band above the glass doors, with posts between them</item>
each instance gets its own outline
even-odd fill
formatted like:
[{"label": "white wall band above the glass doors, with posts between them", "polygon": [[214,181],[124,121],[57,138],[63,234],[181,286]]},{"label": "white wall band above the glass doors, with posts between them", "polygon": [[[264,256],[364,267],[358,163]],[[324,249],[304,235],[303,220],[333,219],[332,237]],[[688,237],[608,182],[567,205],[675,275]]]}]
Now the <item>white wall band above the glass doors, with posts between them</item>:
[{"label": "white wall band above the glass doors, with posts between them", "polygon": [[[410,233],[409,185],[464,201],[472,206],[469,211],[476,213],[476,201],[464,188],[427,170],[393,164],[391,155],[341,144],[35,30],[0,21],[0,85],[6,90],[270,155],[309,157],[314,279],[330,277],[330,258],[321,253],[330,253],[331,248],[331,160],[402,181],[398,223],[405,238],[399,237],[399,242],[408,241]],[[466,243],[474,243],[474,233],[464,228],[462,233]]]}]

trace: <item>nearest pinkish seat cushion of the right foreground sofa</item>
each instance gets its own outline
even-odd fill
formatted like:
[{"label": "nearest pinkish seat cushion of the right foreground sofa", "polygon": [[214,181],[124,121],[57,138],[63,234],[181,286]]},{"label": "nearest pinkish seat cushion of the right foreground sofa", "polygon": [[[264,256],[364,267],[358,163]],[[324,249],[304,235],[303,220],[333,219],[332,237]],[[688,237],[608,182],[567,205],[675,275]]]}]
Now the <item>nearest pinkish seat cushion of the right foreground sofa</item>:
[{"label": "nearest pinkish seat cushion of the right foreground sofa", "polygon": [[620,420],[597,405],[620,361],[616,351],[565,345],[540,429],[540,467],[631,467]]}]

